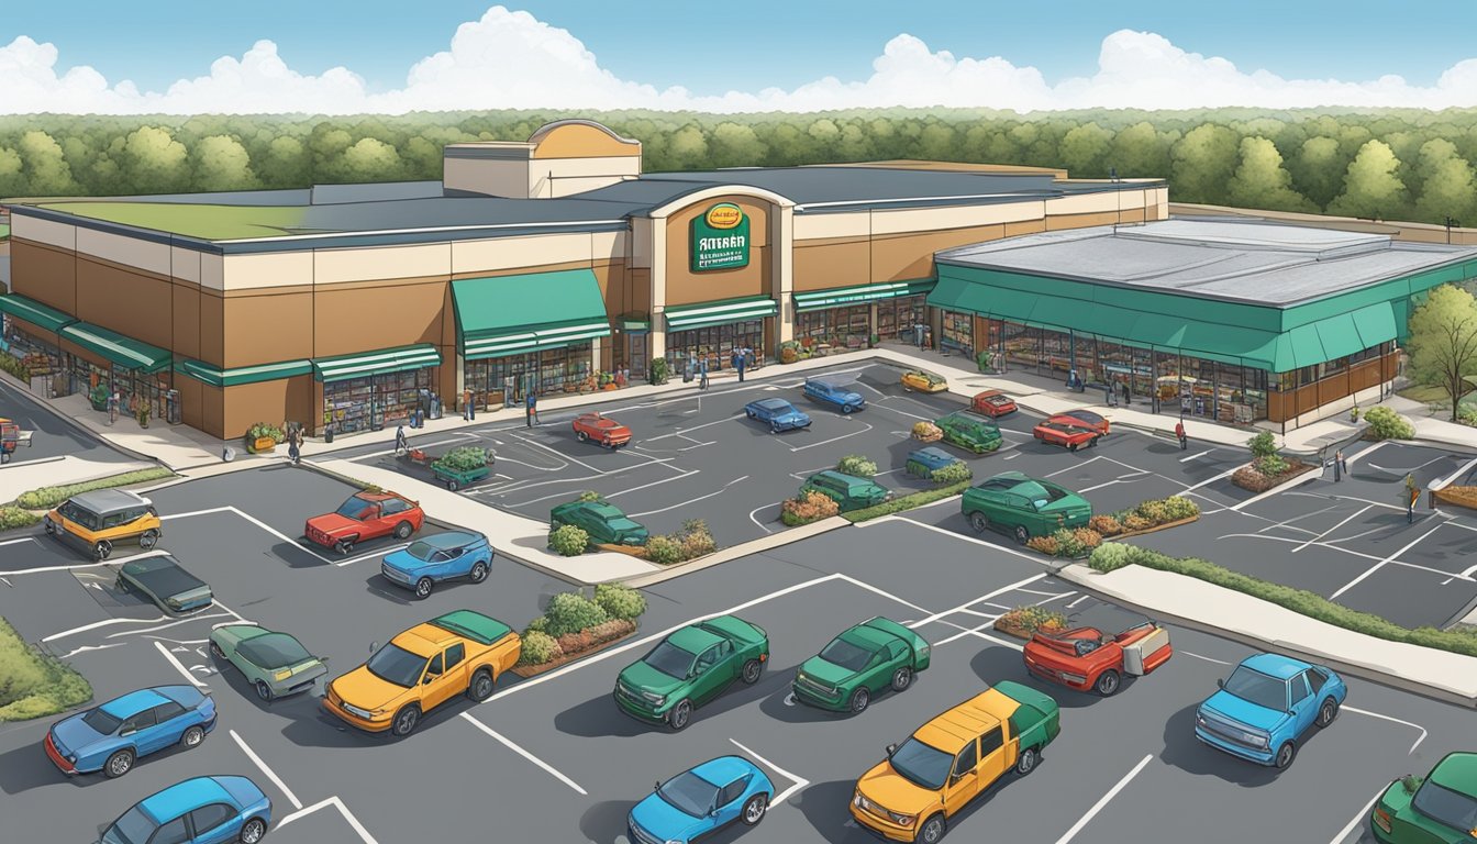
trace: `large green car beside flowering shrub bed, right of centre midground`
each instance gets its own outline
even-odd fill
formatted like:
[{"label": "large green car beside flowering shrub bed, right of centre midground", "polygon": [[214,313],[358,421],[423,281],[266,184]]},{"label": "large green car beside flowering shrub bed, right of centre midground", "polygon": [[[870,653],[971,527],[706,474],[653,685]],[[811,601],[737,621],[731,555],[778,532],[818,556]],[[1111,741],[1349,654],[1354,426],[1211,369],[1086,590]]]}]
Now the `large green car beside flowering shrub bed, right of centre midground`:
[{"label": "large green car beside flowering shrub bed, right of centre midground", "polygon": [[1001,472],[970,486],[960,507],[975,532],[994,528],[1013,535],[1022,545],[1031,537],[1081,528],[1093,517],[1093,506],[1081,495],[1019,472]]}]

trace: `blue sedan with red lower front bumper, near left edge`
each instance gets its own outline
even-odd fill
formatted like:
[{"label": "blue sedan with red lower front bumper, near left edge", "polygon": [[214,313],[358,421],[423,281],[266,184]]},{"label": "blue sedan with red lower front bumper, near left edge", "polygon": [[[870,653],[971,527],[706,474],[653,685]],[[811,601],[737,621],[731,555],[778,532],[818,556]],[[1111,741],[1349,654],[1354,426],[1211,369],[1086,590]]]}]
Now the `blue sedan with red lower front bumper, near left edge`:
[{"label": "blue sedan with red lower front bumper, near left edge", "polygon": [[62,773],[118,777],[139,757],[199,746],[216,729],[216,701],[193,686],[155,686],[62,718],[46,732],[46,755]]}]

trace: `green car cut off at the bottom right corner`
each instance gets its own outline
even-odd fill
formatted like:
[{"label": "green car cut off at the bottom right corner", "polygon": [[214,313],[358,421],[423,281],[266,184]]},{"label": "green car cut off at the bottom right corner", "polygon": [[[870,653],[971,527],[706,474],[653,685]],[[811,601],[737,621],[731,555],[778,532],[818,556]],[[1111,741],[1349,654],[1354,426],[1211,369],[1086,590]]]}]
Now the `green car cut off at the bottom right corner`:
[{"label": "green car cut off at the bottom right corner", "polygon": [[1391,782],[1369,829],[1382,844],[1470,844],[1477,838],[1477,754],[1446,754],[1424,779]]}]

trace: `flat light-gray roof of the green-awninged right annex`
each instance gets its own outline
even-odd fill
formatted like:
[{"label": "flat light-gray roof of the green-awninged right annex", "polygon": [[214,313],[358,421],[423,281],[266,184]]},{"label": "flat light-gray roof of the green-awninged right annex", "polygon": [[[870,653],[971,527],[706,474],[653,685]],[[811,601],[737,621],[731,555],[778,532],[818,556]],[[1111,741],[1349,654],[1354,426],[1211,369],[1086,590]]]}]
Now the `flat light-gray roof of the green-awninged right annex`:
[{"label": "flat light-gray roof of the green-awninged right annex", "polygon": [[1289,306],[1477,259],[1477,248],[1196,217],[1025,235],[933,257],[979,269]]}]

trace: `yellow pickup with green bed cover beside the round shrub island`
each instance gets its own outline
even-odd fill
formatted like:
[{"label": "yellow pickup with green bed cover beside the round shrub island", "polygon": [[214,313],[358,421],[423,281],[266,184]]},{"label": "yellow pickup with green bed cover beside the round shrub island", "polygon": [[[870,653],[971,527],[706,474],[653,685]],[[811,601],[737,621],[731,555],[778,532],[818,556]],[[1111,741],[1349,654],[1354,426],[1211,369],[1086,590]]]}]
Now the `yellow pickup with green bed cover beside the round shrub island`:
[{"label": "yellow pickup with green bed cover beside the round shrub island", "polygon": [[360,730],[408,736],[421,715],[455,695],[490,698],[521,653],[523,639],[511,627],[458,609],[377,646],[368,662],[328,684],[323,708]]}]

